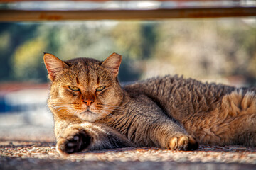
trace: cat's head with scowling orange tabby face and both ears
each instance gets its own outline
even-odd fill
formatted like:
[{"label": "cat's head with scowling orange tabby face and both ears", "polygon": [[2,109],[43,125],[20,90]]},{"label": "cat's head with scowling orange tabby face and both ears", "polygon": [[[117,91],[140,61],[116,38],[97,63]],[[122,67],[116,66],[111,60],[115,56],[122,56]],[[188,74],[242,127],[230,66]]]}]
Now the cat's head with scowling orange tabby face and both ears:
[{"label": "cat's head with scowling orange tabby face and both ears", "polygon": [[50,86],[48,106],[58,116],[93,122],[118,108],[123,92],[117,74],[121,55],[113,53],[104,62],[90,58],[62,61],[43,56]]}]

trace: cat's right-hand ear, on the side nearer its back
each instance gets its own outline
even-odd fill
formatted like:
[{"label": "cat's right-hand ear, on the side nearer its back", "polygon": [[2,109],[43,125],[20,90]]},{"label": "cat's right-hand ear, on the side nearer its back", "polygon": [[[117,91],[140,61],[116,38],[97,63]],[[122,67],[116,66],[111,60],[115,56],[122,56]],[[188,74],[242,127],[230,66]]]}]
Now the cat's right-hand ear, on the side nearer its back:
[{"label": "cat's right-hand ear, on the side nearer its back", "polygon": [[121,64],[122,55],[118,55],[117,53],[112,53],[107,59],[102,62],[102,66],[106,67],[107,69],[110,69],[115,76],[117,76],[119,67]]}]

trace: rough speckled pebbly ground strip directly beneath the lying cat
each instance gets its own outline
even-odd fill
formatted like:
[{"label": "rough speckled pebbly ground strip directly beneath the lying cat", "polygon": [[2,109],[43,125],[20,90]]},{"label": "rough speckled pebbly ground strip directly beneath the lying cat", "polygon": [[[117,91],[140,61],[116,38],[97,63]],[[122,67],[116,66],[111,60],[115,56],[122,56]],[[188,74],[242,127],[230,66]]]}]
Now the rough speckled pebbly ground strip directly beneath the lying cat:
[{"label": "rough speckled pebbly ground strip directly beneath the lying cat", "polygon": [[0,169],[256,169],[256,148],[122,148],[60,157],[55,142],[0,141]]}]

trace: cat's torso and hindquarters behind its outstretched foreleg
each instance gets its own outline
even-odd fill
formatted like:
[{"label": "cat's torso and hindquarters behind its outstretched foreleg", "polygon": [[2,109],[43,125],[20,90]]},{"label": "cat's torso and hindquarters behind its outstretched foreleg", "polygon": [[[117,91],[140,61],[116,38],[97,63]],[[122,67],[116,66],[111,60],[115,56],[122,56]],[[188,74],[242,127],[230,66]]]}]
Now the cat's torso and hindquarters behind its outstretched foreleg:
[{"label": "cat's torso and hindquarters behind its outstretched foreleg", "polygon": [[236,89],[182,77],[158,77],[127,86],[144,94],[203,145],[256,144],[255,88]]}]

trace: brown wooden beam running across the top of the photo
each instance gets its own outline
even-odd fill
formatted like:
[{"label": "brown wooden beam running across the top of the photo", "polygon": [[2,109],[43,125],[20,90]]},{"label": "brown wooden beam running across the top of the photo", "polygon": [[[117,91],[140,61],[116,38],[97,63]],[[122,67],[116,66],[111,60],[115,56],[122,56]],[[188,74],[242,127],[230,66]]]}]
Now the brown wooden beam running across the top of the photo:
[{"label": "brown wooden beam running across the top of the photo", "polygon": [[151,10],[0,10],[0,21],[158,20],[256,16],[256,7],[169,8]]}]

